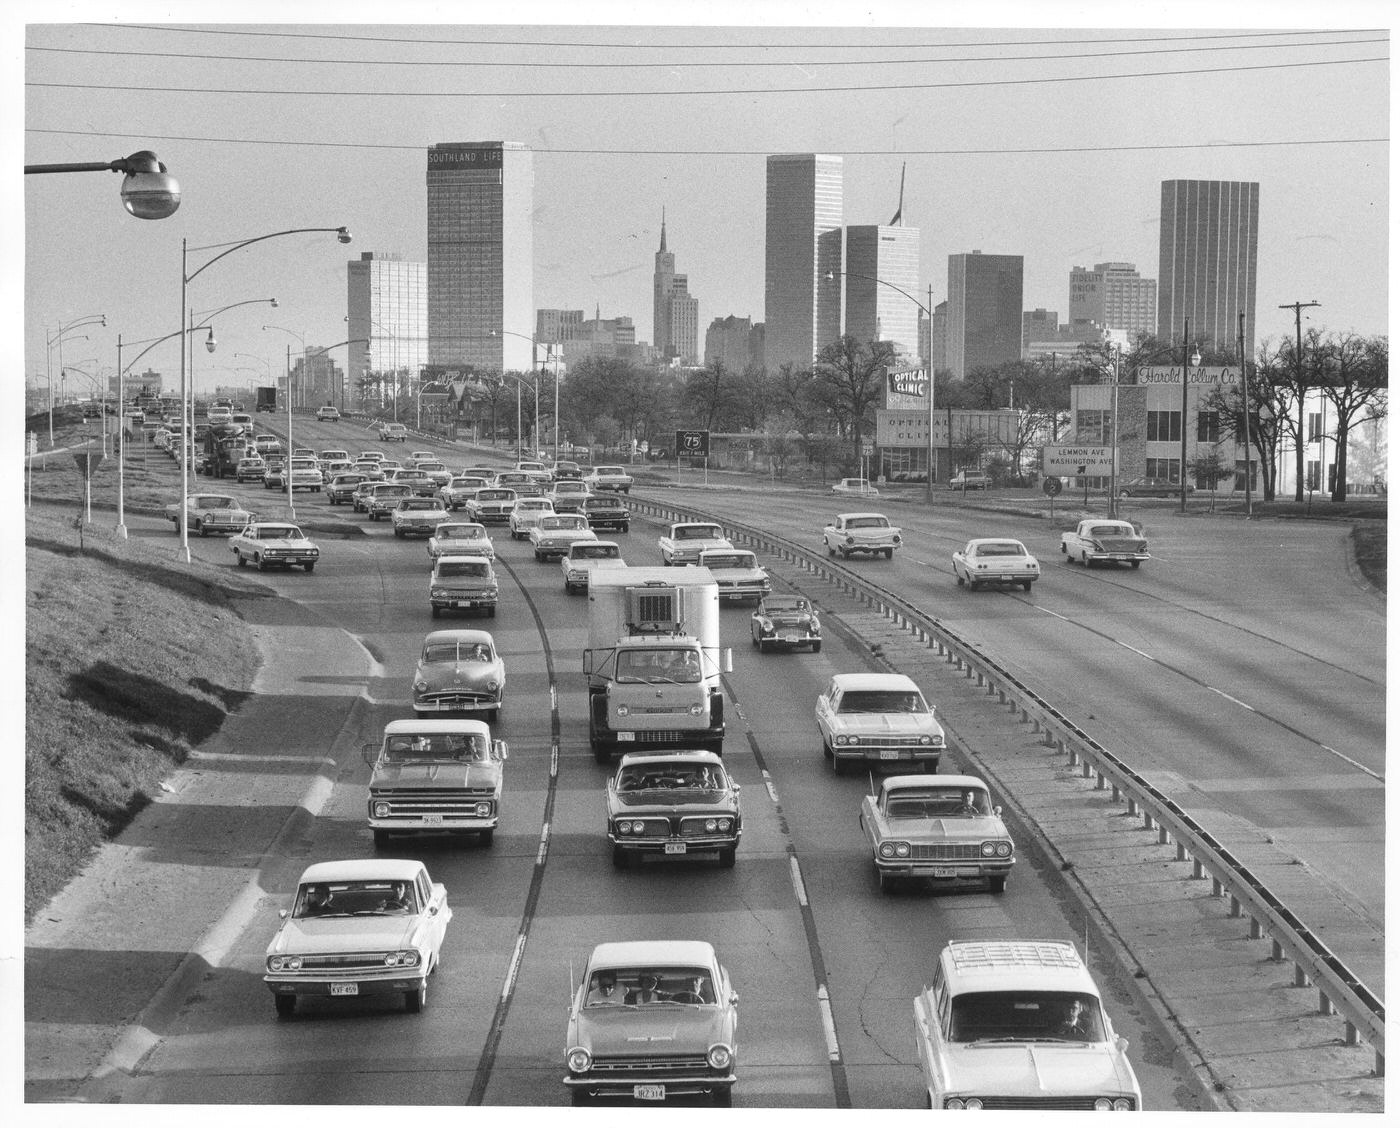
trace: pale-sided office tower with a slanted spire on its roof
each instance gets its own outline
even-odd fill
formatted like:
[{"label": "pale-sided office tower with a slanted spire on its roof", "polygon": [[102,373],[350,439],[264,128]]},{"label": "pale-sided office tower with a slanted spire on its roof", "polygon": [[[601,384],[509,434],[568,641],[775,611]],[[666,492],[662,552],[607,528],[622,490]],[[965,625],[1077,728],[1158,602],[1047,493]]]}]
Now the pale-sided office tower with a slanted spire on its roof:
[{"label": "pale-sided office tower with a slanted spire on its roof", "polygon": [[[903,292],[900,292],[903,291]],[[883,340],[906,360],[918,355],[918,228],[846,228],[846,333]]]}]

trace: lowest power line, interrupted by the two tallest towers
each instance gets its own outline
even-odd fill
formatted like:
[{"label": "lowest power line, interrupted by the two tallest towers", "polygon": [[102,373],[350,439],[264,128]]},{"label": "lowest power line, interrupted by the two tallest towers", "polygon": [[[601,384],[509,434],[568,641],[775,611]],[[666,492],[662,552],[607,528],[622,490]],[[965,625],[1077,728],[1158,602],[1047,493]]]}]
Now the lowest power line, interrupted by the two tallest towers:
[{"label": "lowest power line, interrupted by the two tallest towers", "polygon": [[[427,153],[424,144],[384,144],[365,141],[274,141],[249,137],[195,137],[178,133],[116,133],[85,129],[36,129],[25,133],[43,133],[60,137],[125,137],[144,141],[189,141],[220,146],[290,146],[295,148],[356,148],[386,150],[402,153]],[[1292,137],[1287,141],[1189,141],[1182,144],[1151,146],[1068,146],[1064,148],[840,148],[823,147],[823,153],[843,157],[1021,157],[1056,155],[1079,153],[1169,153],[1180,150],[1219,148],[1285,148],[1291,146],[1366,146],[1389,144],[1389,137]],[[771,148],[560,148],[554,146],[531,146],[531,153],[560,157],[769,157]]]}]

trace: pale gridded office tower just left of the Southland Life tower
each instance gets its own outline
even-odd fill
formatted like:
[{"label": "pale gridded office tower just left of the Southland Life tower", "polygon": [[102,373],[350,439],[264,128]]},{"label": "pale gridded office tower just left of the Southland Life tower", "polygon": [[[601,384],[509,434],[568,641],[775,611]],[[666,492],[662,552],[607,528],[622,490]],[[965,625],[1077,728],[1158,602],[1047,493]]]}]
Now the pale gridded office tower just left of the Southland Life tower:
[{"label": "pale gridded office tower just left of the Southland Life tower", "polygon": [[[346,336],[351,341],[346,351],[347,399],[357,406],[367,397],[378,403],[395,386],[392,374],[412,379],[427,364],[428,266],[398,253],[365,251],[350,260],[346,277]],[[379,378],[379,385],[371,388],[367,375]]]}]

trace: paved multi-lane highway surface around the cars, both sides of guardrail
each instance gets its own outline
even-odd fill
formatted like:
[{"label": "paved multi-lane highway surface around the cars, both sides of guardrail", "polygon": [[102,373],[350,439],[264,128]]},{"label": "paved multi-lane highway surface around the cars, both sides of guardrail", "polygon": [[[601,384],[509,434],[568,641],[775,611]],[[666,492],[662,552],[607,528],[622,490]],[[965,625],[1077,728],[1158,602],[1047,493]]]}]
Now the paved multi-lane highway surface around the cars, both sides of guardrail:
[{"label": "paved multi-lane highway surface around the cars, both sides of guardrail", "polygon": [[[343,444],[343,427],[321,430],[307,425],[308,445]],[[242,491],[253,508],[273,497]],[[867,784],[830,773],[812,722],[822,683],[868,668],[868,648],[829,630],[819,655],[757,655],[746,642],[748,609],[725,610],[722,626],[735,662],[725,683],[725,759],[745,788],[738,865],[615,870],[602,834],[605,770],[587,742],[587,605],[564,593],[557,565],[535,563],[528,546],[501,530],[501,605],[482,626],[508,668],[498,732],[511,747],[505,816],[490,849],[403,844],[447,884],[456,914],[430,1005],[419,1016],[396,1005],[308,1005],[277,1022],[260,982],[277,910],[309,861],[371,851],[358,747],[386,721],[409,715],[423,634],[444,626],[428,613],[421,542],[395,540],[382,525],[302,497],[298,518],[308,525],[336,514],[360,528],[318,537],[315,575],[263,577],[300,610],[255,602],[249,617],[295,651],[269,663],[189,803],[237,808],[235,796],[267,777],[315,795],[315,817],[274,840],[255,875],[256,897],[228,918],[234,926],[209,974],[146,1047],[116,1090],[122,1100],[564,1104],[568,984],[591,946],[699,938],[717,945],[741,992],[736,1106],[914,1107],[923,1092],[911,999],[944,942],[1079,935],[1058,875],[1029,855],[1002,896],[882,896],[855,822]],[[713,490],[687,500],[813,543],[820,523],[811,495],[801,507],[757,493],[735,502]],[[825,500],[818,508],[834,511]],[[129,523],[133,536],[169,539],[155,519]],[[953,585],[953,543],[1023,526],[969,511],[918,516],[906,521],[909,544],[893,564],[869,567],[910,595],[927,595],[935,614],[1063,701],[1103,743],[1179,774],[1203,806],[1247,803],[1246,815],[1291,836],[1299,854],[1310,849],[1317,870],[1379,921],[1382,901],[1366,900],[1380,887],[1379,858],[1373,868],[1357,866],[1357,849],[1343,840],[1382,841],[1376,701],[1385,669],[1382,627],[1371,621],[1380,616],[1337,584],[1320,584],[1308,600],[1277,595],[1296,592],[1299,561],[1317,572],[1340,565],[1336,537],[1308,530],[1280,551],[1277,528],[1229,526],[1221,536],[1207,522],[1149,521],[1156,560],[1140,572],[1086,574],[1054,560],[1049,535],[1021,532],[1047,571],[1030,595],[972,596]],[[629,563],[657,563],[647,522],[617,539]],[[196,539],[192,547],[232,568],[223,540]],[[326,651],[321,663],[318,645]],[[1240,662],[1250,652],[1260,658]],[[951,763],[959,763],[956,750]],[[1334,792],[1344,792],[1343,802]],[[178,808],[179,798],[162,806]],[[1348,852],[1350,868],[1337,861]],[[1201,1107],[1151,1015],[1114,988],[1113,968],[1095,970],[1110,992],[1110,1016],[1133,1044],[1147,1107]]]}]

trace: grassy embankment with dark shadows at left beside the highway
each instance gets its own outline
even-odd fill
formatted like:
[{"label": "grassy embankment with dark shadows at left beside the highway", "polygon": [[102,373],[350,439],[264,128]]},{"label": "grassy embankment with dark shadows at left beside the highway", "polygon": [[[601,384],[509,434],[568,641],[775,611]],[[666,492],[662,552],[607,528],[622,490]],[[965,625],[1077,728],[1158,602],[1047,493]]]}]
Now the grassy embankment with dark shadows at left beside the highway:
[{"label": "grassy embankment with dark shadows at left beside the highway", "polygon": [[80,551],[76,512],[25,511],[27,921],[218,729],[258,668],[230,599],[258,588],[118,540],[105,514]]}]

